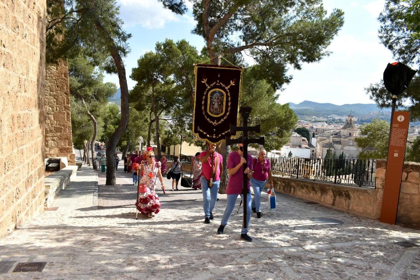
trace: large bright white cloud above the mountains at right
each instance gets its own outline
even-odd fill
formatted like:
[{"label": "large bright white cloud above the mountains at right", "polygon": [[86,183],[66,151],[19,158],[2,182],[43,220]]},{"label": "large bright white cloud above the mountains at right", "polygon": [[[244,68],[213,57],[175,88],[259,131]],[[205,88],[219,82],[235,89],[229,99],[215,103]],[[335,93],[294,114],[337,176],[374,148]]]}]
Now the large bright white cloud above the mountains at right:
[{"label": "large bright white cloud above the mountains at right", "polygon": [[364,89],[381,79],[387,63],[392,62],[391,52],[378,39],[350,34],[337,36],[329,49],[333,53],[319,63],[305,63],[302,71],[290,71],[293,79],[280,92],[280,103],[373,103]]}]

